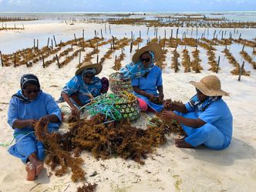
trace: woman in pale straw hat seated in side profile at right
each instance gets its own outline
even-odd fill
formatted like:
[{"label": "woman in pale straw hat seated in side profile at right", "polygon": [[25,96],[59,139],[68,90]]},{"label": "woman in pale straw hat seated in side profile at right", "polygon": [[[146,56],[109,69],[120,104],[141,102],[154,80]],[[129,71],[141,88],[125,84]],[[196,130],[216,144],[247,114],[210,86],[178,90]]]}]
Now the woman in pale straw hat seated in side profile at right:
[{"label": "woman in pale straw hat seated in side profile at right", "polygon": [[213,150],[222,150],[231,143],[233,117],[222,96],[229,93],[221,89],[217,76],[205,76],[200,82],[190,81],[197,94],[186,104],[165,103],[170,110],[164,111],[166,120],[177,120],[187,133],[175,140],[181,148],[192,148],[204,144]]}]

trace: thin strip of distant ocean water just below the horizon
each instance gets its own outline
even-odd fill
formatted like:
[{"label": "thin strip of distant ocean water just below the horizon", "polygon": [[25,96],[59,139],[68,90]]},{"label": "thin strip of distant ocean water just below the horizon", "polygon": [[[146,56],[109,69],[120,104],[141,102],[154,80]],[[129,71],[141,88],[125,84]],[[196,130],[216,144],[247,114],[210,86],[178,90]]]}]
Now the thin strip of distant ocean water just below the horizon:
[{"label": "thin strip of distant ocean water just below the horizon", "polygon": [[250,12],[0,12],[0,17],[29,19],[118,19],[204,15],[207,18],[225,18],[234,22],[256,22],[256,11]]}]

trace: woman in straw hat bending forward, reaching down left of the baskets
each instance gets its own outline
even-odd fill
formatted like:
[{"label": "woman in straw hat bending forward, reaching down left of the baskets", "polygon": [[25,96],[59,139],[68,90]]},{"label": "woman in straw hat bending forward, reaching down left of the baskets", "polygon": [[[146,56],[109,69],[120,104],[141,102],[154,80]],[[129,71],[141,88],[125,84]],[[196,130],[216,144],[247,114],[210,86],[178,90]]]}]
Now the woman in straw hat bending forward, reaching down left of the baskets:
[{"label": "woman in straw hat bending forward, reaching down left of the baskets", "polygon": [[90,99],[99,96],[100,93],[106,93],[109,89],[108,79],[106,77],[99,79],[96,76],[102,69],[101,64],[84,62],[76,70],[76,76],[62,88],[61,97],[57,102],[66,101],[71,107],[72,114],[79,116],[79,110],[77,109],[79,106],[84,106],[89,103]]}]

